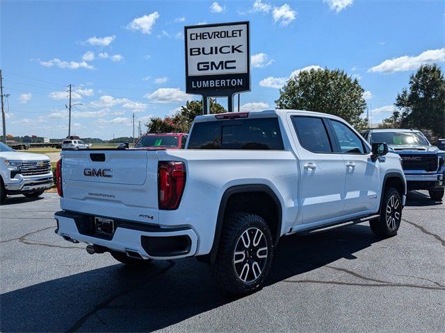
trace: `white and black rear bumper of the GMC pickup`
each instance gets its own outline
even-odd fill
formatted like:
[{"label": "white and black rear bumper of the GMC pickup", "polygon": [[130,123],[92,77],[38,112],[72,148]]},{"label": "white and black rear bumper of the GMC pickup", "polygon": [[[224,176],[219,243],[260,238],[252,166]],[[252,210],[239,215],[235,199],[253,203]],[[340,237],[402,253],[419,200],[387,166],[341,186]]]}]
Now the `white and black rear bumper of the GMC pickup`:
[{"label": "white and black rear bumper of the GMC pickup", "polygon": [[[190,228],[158,228],[147,223],[118,223],[113,237],[100,237],[94,221],[74,212],[56,212],[56,234],[65,239],[139,253],[145,259],[177,259],[195,255],[197,235]],[[90,231],[88,231],[90,230]],[[88,232],[90,234],[88,234]]]}]

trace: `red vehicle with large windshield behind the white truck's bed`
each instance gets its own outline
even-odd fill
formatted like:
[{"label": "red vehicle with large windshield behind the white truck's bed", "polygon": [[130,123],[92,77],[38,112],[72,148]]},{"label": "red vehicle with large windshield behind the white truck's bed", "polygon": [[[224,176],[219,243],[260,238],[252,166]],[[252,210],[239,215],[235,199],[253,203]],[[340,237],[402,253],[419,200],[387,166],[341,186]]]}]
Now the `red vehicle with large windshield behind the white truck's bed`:
[{"label": "red vehicle with large windshield behind the white truck's bed", "polygon": [[140,137],[134,148],[138,149],[183,149],[187,142],[186,133],[156,133]]}]

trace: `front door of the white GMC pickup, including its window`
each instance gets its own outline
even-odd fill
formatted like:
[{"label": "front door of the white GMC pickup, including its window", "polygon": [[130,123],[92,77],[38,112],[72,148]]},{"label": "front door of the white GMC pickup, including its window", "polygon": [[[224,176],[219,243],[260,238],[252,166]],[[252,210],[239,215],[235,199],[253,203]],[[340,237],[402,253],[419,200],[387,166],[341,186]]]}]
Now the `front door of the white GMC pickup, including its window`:
[{"label": "front door of the white GMC pickup, including its window", "polygon": [[371,160],[371,151],[364,140],[346,123],[327,119],[334,151],[341,153],[346,172],[345,214],[376,212],[380,202],[379,160]]}]

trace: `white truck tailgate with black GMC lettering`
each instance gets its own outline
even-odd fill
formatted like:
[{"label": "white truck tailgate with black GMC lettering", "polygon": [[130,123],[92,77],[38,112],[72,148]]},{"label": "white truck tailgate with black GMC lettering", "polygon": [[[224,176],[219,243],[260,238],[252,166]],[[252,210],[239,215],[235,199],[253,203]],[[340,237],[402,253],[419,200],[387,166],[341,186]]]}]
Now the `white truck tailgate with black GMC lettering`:
[{"label": "white truck tailgate with black GMC lettering", "polygon": [[63,210],[158,223],[158,157],[151,151],[63,151]]}]

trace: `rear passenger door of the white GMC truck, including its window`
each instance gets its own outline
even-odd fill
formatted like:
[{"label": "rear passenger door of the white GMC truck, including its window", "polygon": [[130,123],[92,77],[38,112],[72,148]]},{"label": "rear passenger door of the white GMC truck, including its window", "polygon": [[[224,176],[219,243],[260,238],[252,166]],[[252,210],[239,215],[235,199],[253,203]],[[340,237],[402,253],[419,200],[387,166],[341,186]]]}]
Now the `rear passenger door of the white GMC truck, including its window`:
[{"label": "rear passenger door of the white GMC truck, including its window", "polygon": [[302,223],[322,224],[340,219],[345,205],[345,166],[341,154],[334,153],[322,117],[291,116],[296,130],[301,171],[300,205]]}]

